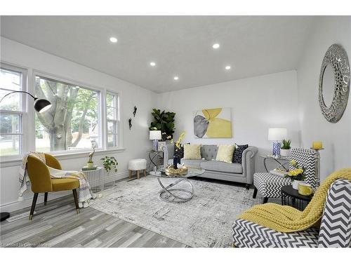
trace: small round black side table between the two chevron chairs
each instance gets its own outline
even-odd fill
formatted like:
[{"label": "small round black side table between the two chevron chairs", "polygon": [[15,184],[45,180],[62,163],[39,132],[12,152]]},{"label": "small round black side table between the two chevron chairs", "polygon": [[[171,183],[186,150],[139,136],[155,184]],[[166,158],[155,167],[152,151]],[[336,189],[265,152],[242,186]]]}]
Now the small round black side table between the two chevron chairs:
[{"label": "small round black side table between the two chevron chairs", "polygon": [[303,196],[298,194],[298,190],[293,189],[291,185],[282,187],[282,205],[290,205],[300,211],[304,210],[305,207],[310,203],[313,194],[310,196]]}]

